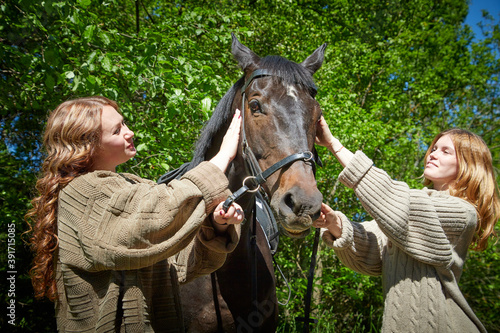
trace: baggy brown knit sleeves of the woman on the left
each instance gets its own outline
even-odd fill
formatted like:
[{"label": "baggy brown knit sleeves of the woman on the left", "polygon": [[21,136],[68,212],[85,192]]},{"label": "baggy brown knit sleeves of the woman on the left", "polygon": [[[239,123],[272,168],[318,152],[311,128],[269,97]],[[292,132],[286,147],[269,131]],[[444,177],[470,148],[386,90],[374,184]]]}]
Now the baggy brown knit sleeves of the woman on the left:
[{"label": "baggy brown knit sleeves of the woman on the left", "polygon": [[129,270],[184,251],[176,264],[213,271],[238,242],[234,226],[216,236],[207,222],[227,185],[208,162],[168,186],[102,171],[77,177],[59,197],[60,260],[88,271]]}]

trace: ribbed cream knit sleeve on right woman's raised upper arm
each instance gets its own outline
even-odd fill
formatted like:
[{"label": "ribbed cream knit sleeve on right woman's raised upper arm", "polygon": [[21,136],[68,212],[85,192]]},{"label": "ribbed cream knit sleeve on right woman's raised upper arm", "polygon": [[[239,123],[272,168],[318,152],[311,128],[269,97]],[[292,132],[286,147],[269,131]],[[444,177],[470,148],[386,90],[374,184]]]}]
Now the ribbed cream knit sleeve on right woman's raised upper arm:
[{"label": "ribbed cream knit sleeve on right woman's raised upper arm", "polygon": [[[392,180],[361,151],[339,175],[394,245],[427,264],[449,266],[451,242],[471,221],[472,205],[450,195],[430,195]],[[436,192],[436,191],[434,191]]]}]

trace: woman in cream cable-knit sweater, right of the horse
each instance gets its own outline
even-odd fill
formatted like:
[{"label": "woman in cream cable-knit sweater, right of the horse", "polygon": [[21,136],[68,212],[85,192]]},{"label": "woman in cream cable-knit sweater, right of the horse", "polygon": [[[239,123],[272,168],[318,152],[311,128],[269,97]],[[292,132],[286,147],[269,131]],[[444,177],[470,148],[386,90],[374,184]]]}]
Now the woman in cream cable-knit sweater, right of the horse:
[{"label": "woman in cream cable-knit sweater, right of the horse", "polygon": [[322,206],[314,223],[342,263],[382,276],[383,332],[485,332],[458,282],[468,249],[484,250],[500,218],[491,153],[477,135],[452,129],[425,155],[424,184],[410,189],[335,138],[326,121],[316,142],[344,166],[339,180],[354,189],[373,221],[356,223]]}]

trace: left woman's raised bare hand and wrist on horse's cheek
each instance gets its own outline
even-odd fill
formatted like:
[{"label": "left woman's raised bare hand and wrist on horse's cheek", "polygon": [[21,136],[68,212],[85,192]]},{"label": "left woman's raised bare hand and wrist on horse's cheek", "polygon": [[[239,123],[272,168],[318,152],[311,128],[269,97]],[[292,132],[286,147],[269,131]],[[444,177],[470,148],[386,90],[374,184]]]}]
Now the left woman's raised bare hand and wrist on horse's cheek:
[{"label": "left woman's raised bare hand and wrist on horse's cheek", "polygon": [[241,114],[240,110],[236,109],[233,120],[222,140],[219,152],[210,160],[210,162],[215,164],[222,172],[226,172],[229,163],[231,163],[236,156],[240,139],[240,130]]}]

